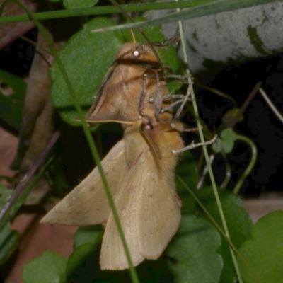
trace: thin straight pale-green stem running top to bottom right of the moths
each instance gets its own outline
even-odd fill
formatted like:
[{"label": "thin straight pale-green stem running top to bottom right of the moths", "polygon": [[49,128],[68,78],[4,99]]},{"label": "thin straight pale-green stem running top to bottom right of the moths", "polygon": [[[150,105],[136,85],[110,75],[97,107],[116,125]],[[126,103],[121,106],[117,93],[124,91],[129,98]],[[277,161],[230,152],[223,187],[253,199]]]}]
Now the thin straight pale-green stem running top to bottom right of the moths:
[{"label": "thin straight pale-green stem running top to bottom right of the moths", "polygon": [[[176,1],[178,1],[178,0],[176,0]],[[180,11],[180,9],[178,8],[177,11]],[[182,49],[183,49],[184,62],[187,66],[186,72],[187,72],[187,75],[190,75],[189,63],[188,63],[188,59],[187,59],[187,52],[186,52],[186,48],[185,48],[185,37],[184,37],[184,33],[183,33],[183,23],[182,23],[182,21],[178,21],[178,26],[179,26],[179,31],[180,31],[181,45],[182,45]],[[189,85],[192,83],[192,79],[190,78],[190,76],[187,77],[187,81],[188,81]],[[197,100],[195,99],[195,92],[194,92],[193,88],[191,90],[191,96],[192,96],[192,99],[193,99],[192,100],[192,107],[194,109],[195,118],[197,120],[197,128],[199,129],[199,133],[200,133],[200,141],[202,143],[204,143],[205,142],[204,141],[204,135],[203,135],[203,132],[202,132],[202,125],[200,124],[200,118],[199,118],[200,115],[199,115],[199,112],[197,110],[197,102],[196,102]],[[214,191],[214,196],[215,196],[215,199],[216,199],[217,206],[219,208],[219,214],[220,214],[221,221],[222,221],[222,224],[223,224],[223,227],[224,227],[224,232],[225,232],[226,237],[229,238],[229,240],[231,241],[230,235],[229,235],[229,230],[228,230],[226,220],[225,220],[225,216],[224,216],[224,212],[223,212],[223,209],[222,209],[222,206],[221,206],[219,194],[217,192],[216,183],[215,183],[214,175],[213,175],[213,172],[212,172],[212,166],[210,166],[207,147],[202,146],[202,150],[204,152],[204,158],[205,158],[205,161],[207,163],[209,178],[212,182],[212,188],[213,188],[213,191]],[[235,267],[235,270],[236,270],[236,274],[238,276],[238,282],[243,283],[241,273],[240,273],[240,270],[238,268],[238,262],[236,260],[235,253],[234,253],[233,249],[231,248],[231,246],[229,246],[229,249],[230,249],[231,257],[232,257],[233,264],[234,264],[234,267]]]}]

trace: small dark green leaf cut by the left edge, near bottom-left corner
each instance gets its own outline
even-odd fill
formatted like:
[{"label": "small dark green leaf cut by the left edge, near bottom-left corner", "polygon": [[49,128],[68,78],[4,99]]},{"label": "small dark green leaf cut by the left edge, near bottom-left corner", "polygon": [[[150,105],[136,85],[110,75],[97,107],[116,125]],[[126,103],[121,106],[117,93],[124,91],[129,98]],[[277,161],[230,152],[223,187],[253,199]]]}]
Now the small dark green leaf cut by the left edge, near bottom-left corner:
[{"label": "small dark green leaf cut by the left edge, near bottom-left corner", "polygon": [[20,235],[6,225],[0,233],[0,265],[3,265],[11,253],[18,247]]}]

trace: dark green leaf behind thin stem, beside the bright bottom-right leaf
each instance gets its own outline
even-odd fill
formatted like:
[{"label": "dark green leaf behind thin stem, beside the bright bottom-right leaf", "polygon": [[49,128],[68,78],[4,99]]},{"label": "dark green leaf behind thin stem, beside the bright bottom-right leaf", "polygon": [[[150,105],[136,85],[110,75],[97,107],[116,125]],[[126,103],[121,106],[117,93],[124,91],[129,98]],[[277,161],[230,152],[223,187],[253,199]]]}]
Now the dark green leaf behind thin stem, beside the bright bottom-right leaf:
[{"label": "dark green leaf behind thin stem, beside the bright bottom-right leaf", "polygon": [[[221,206],[224,212],[226,223],[231,236],[231,241],[236,248],[240,248],[242,243],[251,238],[253,223],[248,215],[248,212],[242,207],[241,198],[233,192],[218,188]],[[212,187],[202,187],[202,190],[197,191],[204,207],[214,217],[215,221],[222,227],[219,209],[216,204]],[[202,209],[199,212],[202,216],[206,216]],[[219,253],[224,260],[224,268],[221,273],[221,282],[232,283],[236,280],[236,271],[233,266],[229,244],[226,239],[221,236],[221,247]]]}]

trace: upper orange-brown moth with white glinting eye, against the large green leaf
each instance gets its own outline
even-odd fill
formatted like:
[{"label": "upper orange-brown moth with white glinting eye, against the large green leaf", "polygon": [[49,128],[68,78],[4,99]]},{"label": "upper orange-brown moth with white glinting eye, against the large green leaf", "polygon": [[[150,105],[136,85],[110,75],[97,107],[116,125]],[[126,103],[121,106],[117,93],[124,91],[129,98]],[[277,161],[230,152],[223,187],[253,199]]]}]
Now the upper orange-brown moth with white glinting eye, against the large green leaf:
[{"label": "upper orange-brown moth with white glinting eye, against the large green leaf", "polygon": [[[143,109],[154,109],[156,105],[158,108],[163,103],[162,98],[168,96],[165,78],[159,79],[161,72],[162,68],[149,45],[125,43],[98,88],[86,120],[135,122]],[[154,105],[150,99],[156,97],[158,101]]]}]

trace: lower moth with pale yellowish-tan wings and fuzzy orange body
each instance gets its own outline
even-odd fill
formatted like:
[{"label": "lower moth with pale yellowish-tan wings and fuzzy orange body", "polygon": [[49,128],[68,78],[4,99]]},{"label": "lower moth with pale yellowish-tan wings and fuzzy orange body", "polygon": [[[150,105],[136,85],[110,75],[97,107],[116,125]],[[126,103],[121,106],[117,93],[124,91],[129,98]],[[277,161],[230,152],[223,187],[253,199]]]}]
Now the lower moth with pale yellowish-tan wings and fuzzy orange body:
[{"label": "lower moth with pale yellowish-tan wings and fuzzy orange body", "polygon": [[[154,110],[145,108],[144,117],[125,129],[123,139],[101,163],[134,265],[158,258],[180,224],[181,202],[174,181],[179,156],[172,151],[183,148],[183,126],[178,122],[172,128],[171,121],[171,113],[162,113],[157,121]],[[129,267],[97,168],[41,222],[105,224],[101,269]]]}]

